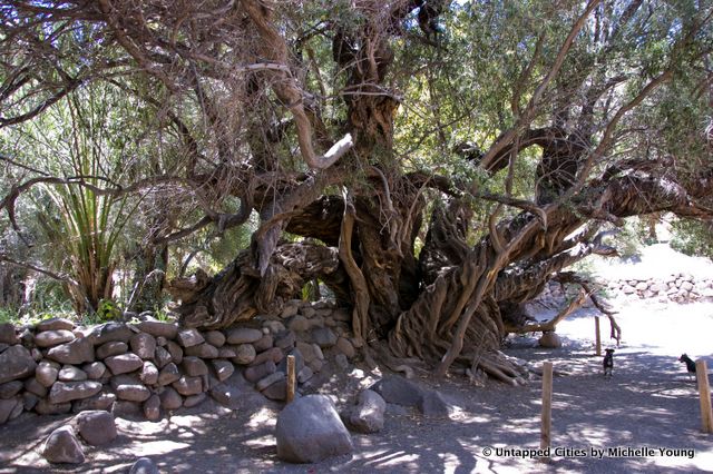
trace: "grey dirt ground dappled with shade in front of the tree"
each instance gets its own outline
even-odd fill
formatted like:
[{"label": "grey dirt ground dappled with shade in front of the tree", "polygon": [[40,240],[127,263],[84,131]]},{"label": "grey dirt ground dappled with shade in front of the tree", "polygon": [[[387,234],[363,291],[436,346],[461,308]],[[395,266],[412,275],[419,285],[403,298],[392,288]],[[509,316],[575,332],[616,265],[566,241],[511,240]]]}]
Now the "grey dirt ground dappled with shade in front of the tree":
[{"label": "grey dirt ground dappled with shade in front of the tree", "polygon": [[[487,446],[538,446],[537,379],[525,387],[490,383],[479,388],[452,378],[439,386],[419,381],[456,406],[450,419],[427,419],[392,406],[383,432],[354,435],[352,456],[319,464],[289,465],[276,458],[273,433],[279,406],[262,402],[257,406],[262,397],[255,397],[235,413],[215,406],[213,413],[203,413],[204,405],[160,423],[118,418],[119,438],[108,447],[87,450],[84,465],[67,468],[50,467],[37,454],[41,440],[67,417],[23,415],[0,427],[0,472],[126,472],[143,455],[164,472],[206,474],[713,472],[713,435],[700,433],[695,384],[676,362],[688,352],[713,365],[713,304],[634,305],[621,310],[624,338],[611,381],[600,375],[600,358],[592,356],[594,323],[586,312],[559,326],[565,336],[560,349],[536,348],[533,338],[516,338],[506,349],[524,359],[553,361],[556,368],[572,374],[555,378],[553,413],[553,446],[569,452],[554,456],[549,465],[517,455],[484,454]],[[605,322],[603,332],[608,332]],[[325,392],[342,394],[345,401],[375,376],[355,372],[351,386],[335,379]],[[608,450],[617,447],[653,451],[643,457],[636,453],[612,457]],[[604,457],[592,457],[592,448],[605,450]],[[678,451],[662,455],[660,448]]]}]

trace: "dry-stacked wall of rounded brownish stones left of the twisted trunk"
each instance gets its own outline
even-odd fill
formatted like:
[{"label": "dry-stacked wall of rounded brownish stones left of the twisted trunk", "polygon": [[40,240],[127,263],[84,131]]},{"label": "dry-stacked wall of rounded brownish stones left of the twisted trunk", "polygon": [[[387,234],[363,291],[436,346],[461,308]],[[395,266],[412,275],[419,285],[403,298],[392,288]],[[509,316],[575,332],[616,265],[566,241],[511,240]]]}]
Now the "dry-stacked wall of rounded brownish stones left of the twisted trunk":
[{"label": "dry-stacked wall of rounded brownish stones left of the twisted trunk", "polygon": [[159,419],[207,396],[231,405],[235,394],[223,382],[236,371],[264,396],[281,401],[286,355],[295,356],[303,388],[326,365],[345,369],[356,355],[350,313],[324,302],[292,300],[281,315],[226,330],[141,319],[92,327],[61,318],[0,325],[0,424],[23,412],[88,409]]}]

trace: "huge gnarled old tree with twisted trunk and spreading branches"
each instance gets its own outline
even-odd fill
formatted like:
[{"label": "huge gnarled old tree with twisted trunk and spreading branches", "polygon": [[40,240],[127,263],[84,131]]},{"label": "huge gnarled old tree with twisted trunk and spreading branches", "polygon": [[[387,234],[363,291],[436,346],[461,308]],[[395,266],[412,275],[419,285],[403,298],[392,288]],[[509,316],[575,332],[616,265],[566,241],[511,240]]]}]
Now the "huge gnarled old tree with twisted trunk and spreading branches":
[{"label": "huge gnarled old tree with twisted trunk and spreading branches", "polygon": [[[316,278],[368,353],[508,379],[495,353],[519,306],[612,253],[606,226],[711,218],[705,1],[6,1],[0,14],[0,127],[106,82],[182,157],[126,182],[59,178],[172,196],[187,210],[157,244],[258,215],[227,268],[174,283],[186,325],[280,310]],[[42,179],[12,185],[10,221]]]}]

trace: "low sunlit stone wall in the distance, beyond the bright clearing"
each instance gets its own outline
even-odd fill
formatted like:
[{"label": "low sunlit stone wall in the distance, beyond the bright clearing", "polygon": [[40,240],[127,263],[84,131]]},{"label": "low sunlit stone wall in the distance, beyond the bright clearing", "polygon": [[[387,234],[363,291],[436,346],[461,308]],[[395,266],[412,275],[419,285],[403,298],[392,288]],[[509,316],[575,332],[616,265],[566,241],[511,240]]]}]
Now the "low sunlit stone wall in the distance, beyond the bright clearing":
[{"label": "low sunlit stone wall in the distance, beyond the bright clearing", "polygon": [[[713,298],[713,276],[695,278],[683,273],[663,278],[625,278],[600,283],[605,297],[656,298],[660,302],[691,303]],[[574,288],[574,286],[573,286]],[[574,295],[576,290],[567,289]],[[550,282],[541,295],[544,300],[555,300],[564,296],[561,286]]]}]

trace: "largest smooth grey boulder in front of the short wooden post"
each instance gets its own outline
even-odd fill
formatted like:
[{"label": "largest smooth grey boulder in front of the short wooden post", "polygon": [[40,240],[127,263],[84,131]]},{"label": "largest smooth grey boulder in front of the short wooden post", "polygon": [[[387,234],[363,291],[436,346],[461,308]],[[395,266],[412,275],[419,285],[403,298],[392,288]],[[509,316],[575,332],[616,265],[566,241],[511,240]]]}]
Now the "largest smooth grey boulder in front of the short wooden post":
[{"label": "largest smooth grey boulder in front of the short wooden post", "polygon": [[277,457],[290,463],[316,463],[349,454],[352,438],[324,395],[307,395],[289,404],[277,416]]}]

